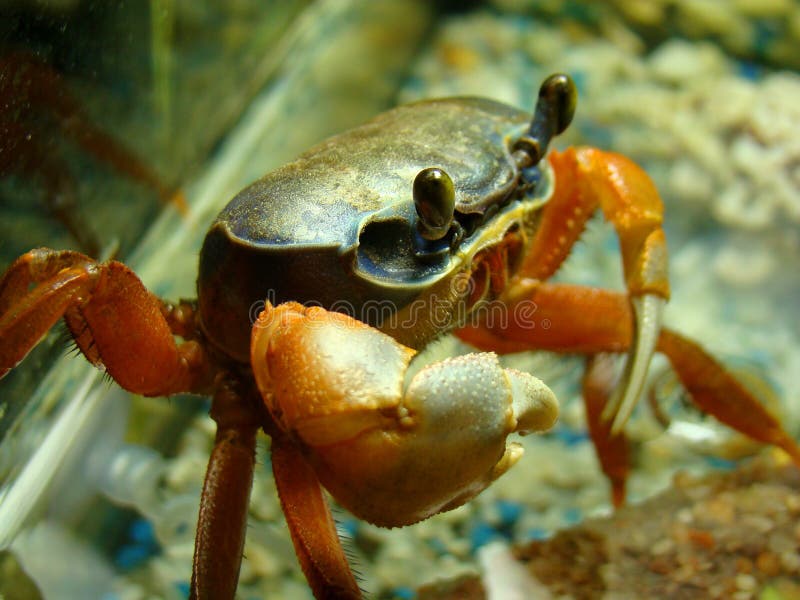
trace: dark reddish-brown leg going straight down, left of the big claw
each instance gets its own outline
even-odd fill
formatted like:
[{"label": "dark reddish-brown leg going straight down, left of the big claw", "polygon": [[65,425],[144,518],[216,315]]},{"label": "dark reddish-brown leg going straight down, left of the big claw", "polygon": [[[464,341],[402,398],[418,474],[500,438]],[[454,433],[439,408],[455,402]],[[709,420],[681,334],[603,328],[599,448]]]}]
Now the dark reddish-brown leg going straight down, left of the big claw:
[{"label": "dark reddish-brown leg going straight down, left of the big claw", "polygon": [[260,398],[223,383],[214,394],[211,418],[217,424],[214,449],[200,497],[192,561],[192,600],[233,598],[247,530],[253,487]]}]

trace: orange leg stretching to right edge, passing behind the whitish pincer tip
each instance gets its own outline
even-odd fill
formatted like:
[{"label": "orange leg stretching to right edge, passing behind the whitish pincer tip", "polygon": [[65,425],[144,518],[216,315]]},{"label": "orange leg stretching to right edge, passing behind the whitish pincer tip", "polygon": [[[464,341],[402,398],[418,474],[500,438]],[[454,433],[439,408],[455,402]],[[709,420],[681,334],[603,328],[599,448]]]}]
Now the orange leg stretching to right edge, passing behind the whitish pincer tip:
[{"label": "orange leg stretching to right edge, passing behind the whitish pincer tip", "polygon": [[[634,337],[632,308],[627,295],[619,292],[517,280],[509,288],[506,302],[509,314],[527,314],[529,318],[510,319],[502,327],[470,324],[456,334],[479,349],[501,354],[523,350],[620,353],[629,349]],[[756,441],[778,446],[800,467],[800,448],[780,422],[698,344],[661,328],[656,350],[667,357],[701,410]],[[592,379],[597,381],[594,376]],[[598,435],[604,431],[616,434],[613,428],[596,429]],[[598,452],[609,443],[593,441]]]}]

